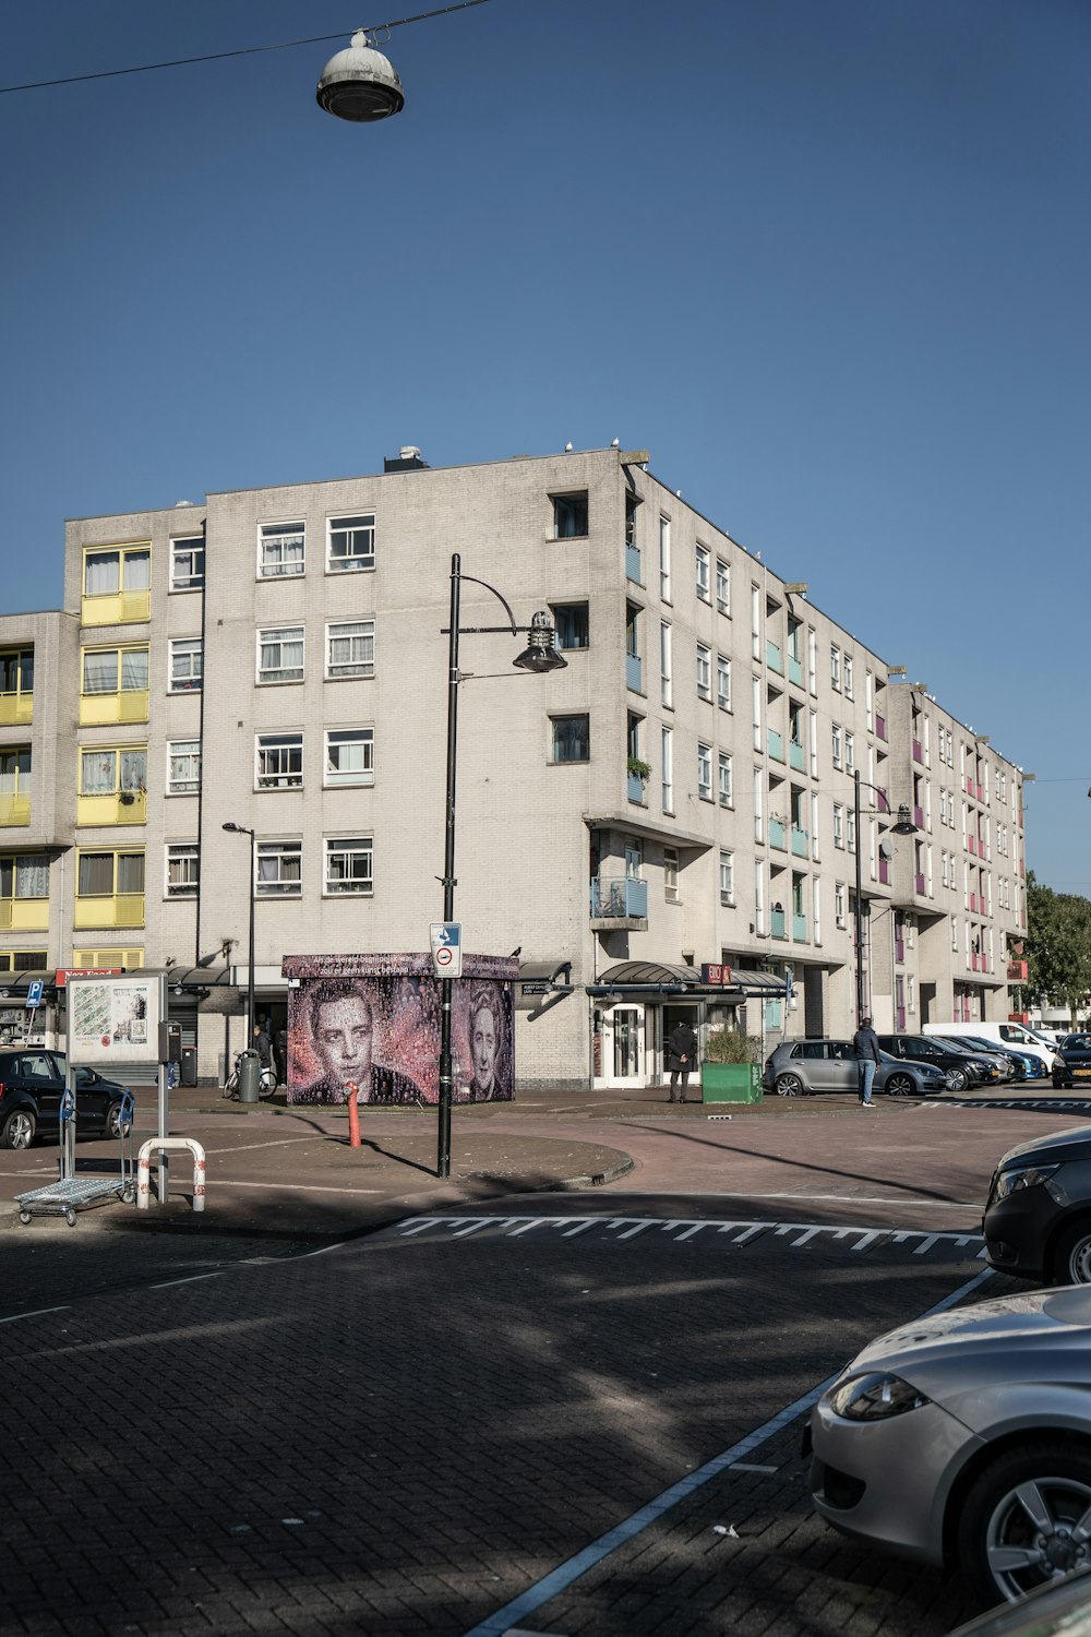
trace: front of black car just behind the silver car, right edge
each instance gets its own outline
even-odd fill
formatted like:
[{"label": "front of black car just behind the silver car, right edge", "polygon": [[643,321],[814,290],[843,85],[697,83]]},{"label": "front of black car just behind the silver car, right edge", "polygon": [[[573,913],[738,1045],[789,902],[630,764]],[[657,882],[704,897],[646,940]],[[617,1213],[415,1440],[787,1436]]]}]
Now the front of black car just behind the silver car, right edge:
[{"label": "front of black car just behind the silver car, right edge", "polygon": [[999,1274],[1089,1285],[1091,1126],[1009,1149],[993,1172],[981,1228]]}]

